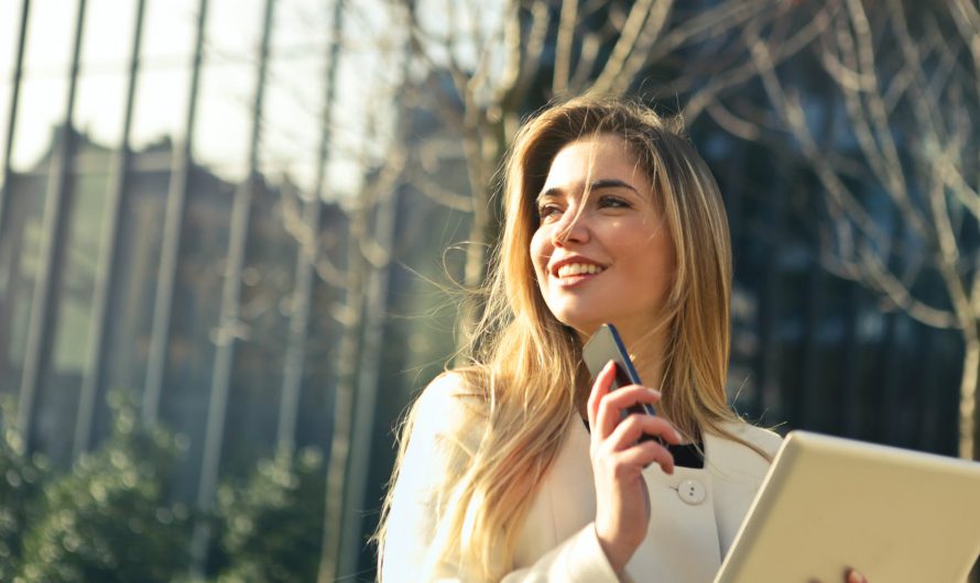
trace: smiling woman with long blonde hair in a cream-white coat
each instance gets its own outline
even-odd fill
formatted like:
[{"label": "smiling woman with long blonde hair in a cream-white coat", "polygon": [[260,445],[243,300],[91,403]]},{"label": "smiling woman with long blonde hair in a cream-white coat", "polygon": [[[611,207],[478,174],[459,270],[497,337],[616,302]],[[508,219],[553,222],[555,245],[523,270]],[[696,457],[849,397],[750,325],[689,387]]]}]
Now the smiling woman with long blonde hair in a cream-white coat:
[{"label": "smiling woman with long blonde hair in a cream-white coat", "polygon": [[[519,133],[472,364],[402,429],[382,581],[714,579],[780,437],[726,400],[728,224],[680,131],[578,98]],[[590,378],[581,346],[603,322],[649,386]],[[622,416],[643,403],[658,415]]]}]

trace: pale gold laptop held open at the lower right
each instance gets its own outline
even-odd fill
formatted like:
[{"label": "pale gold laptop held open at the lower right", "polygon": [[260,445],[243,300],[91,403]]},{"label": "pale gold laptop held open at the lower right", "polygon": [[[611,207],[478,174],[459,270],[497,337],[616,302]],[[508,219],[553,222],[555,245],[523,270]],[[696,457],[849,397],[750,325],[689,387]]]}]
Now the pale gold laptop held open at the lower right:
[{"label": "pale gold laptop held open at the lower right", "polygon": [[786,437],[715,583],[962,583],[980,557],[980,462]]}]

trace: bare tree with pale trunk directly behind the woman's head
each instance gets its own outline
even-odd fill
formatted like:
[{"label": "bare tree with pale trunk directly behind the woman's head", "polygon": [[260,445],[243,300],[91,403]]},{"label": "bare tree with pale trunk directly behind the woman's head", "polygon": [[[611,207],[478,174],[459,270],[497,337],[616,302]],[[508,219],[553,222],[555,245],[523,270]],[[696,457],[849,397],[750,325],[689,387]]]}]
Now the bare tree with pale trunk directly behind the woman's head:
[{"label": "bare tree with pale trunk directly behind the woman's head", "polygon": [[[484,277],[498,227],[494,177],[523,114],[563,95],[639,90],[678,101],[683,96],[688,120],[707,112],[732,125],[721,100],[756,75],[740,31],[749,22],[771,22],[778,4],[509,0],[494,12],[479,0],[395,3],[409,21],[415,54],[435,73],[429,78],[451,81],[454,95],[435,89],[444,100],[439,114],[462,144],[469,193],[451,193],[433,170],[412,176],[433,199],[471,213],[462,282],[470,289]],[[439,19],[426,18],[433,12]],[[772,59],[792,56],[819,31],[819,20],[795,30]],[[462,327],[472,318],[465,314]]]}]

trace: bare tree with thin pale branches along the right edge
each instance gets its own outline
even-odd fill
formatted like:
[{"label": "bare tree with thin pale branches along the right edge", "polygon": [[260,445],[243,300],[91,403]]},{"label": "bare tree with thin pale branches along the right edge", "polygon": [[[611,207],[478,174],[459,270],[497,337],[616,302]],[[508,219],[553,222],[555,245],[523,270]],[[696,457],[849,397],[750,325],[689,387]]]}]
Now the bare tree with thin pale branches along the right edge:
[{"label": "bare tree with thin pale branches along the right edge", "polygon": [[[959,454],[980,459],[980,11],[969,0],[837,0],[824,10],[813,47],[828,82],[816,91],[840,105],[840,120],[814,121],[815,89],[774,57],[780,34],[744,30],[781,128],[824,190],[821,263],[892,308],[960,332]],[[941,301],[923,294],[928,282]]]}]

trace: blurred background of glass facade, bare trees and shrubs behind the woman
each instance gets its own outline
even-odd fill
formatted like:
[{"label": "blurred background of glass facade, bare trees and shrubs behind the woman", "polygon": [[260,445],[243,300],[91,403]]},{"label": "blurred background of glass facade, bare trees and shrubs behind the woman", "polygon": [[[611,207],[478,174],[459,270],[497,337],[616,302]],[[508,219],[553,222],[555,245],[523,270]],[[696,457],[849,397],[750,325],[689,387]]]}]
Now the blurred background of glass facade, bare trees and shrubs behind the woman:
[{"label": "blurred background of glass facade, bare trees and shrubs behind the woman", "polygon": [[370,581],[551,99],[682,113],[749,419],[980,458],[974,0],[0,0],[0,581]]}]

